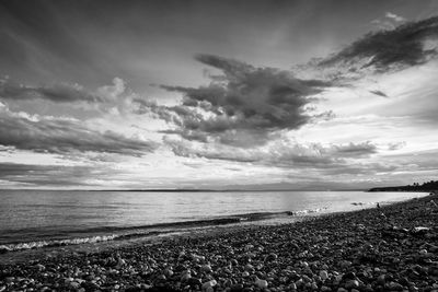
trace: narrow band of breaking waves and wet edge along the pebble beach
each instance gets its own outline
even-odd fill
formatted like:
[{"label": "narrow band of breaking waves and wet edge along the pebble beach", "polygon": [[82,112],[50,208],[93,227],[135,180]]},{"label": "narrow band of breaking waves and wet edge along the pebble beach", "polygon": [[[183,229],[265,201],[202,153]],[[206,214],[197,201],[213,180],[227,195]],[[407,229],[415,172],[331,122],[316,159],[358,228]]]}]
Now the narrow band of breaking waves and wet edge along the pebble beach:
[{"label": "narrow band of breaking waves and wet edge along the pebble beach", "polygon": [[[418,192],[411,192],[418,194]],[[426,196],[427,192],[422,192]],[[417,196],[417,195],[415,195]],[[413,196],[414,197],[414,196]],[[412,197],[412,198],[413,198]],[[4,236],[0,235],[0,260],[4,253],[18,253],[26,249],[39,249],[48,247],[64,247],[70,245],[99,244],[105,242],[119,242],[131,238],[142,238],[158,236],[165,233],[189,232],[196,229],[209,229],[220,225],[233,226],[244,224],[280,224],[292,223],[301,220],[302,217],[320,215],[333,212],[346,212],[351,210],[360,210],[376,207],[380,205],[393,203],[394,201],[406,200],[408,198],[397,200],[379,200],[379,201],[361,201],[351,200],[351,202],[342,208],[326,205],[313,206],[312,209],[277,209],[268,211],[252,210],[249,213],[217,214],[212,217],[197,217],[193,220],[183,218],[182,221],[157,221],[150,224],[127,224],[123,225],[104,225],[96,224],[83,229],[57,229],[56,225],[48,229],[27,227],[3,230]]]}]

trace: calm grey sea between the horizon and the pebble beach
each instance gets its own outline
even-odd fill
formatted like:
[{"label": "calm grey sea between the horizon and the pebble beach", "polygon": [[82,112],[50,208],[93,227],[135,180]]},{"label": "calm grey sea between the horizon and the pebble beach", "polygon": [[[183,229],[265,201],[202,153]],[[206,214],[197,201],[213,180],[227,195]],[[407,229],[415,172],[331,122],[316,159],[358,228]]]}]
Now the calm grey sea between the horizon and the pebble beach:
[{"label": "calm grey sea between the horizon and the pebble beach", "polygon": [[[162,227],[157,225],[161,223],[235,215],[244,220],[245,214],[260,212],[306,214],[348,211],[424,195],[362,191],[0,190],[0,245],[23,249],[53,243],[106,241],[119,235],[147,233],[152,227]],[[211,224],[215,222],[211,221]]]}]

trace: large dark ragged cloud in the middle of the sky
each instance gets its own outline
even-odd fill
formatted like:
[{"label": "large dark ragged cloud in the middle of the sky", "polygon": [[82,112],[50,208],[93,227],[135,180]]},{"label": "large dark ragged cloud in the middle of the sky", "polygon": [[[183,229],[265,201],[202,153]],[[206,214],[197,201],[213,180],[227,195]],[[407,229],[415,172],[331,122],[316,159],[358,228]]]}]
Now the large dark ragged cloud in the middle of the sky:
[{"label": "large dark ragged cloud in the middle of the sky", "polygon": [[307,106],[316,101],[313,95],[331,85],[297,79],[289,71],[256,68],[212,55],[198,55],[196,59],[222,74],[210,75],[211,83],[206,86],[161,85],[182,93],[183,102],[151,109],[174,122],[178,127],[175,132],[189,140],[214,136],[223,143],[239,144],[239,136],[249,133],[262,138],[256,140],[263,143],[272,131],[298,129],[315,118]]}]

